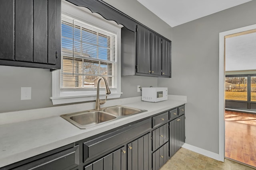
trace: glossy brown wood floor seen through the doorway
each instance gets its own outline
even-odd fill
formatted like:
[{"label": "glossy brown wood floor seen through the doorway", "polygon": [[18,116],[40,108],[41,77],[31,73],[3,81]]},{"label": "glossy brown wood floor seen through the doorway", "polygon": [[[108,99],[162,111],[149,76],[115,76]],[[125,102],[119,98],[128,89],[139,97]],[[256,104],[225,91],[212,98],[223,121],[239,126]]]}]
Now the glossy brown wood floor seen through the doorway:
[{"label": "glossy brown wood floor seen through the doorway", "polygon": [[225,112],[225,156],[256,167],[256,115]]}]

